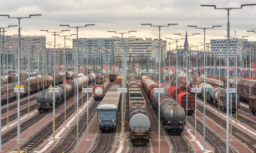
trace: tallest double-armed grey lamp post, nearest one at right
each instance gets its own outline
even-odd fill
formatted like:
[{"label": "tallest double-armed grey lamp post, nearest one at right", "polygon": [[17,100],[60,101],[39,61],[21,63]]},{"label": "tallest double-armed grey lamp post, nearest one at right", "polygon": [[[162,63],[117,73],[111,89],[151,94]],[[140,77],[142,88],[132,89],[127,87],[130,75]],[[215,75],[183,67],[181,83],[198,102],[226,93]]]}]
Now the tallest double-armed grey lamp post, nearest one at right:
[{"label": "tallest double-armed grey lamp post, nearest one at right", "polygon": [[[242,4],[241,7],[216,8],[216,5],[200,5],[202,7],[214,7],[214,9],[227,10],[227,70],[229,70],[229,11],[233,9],[242,9],[243,6],[256,4]],[[229,73],[227,73],[227,129],[226,129],[226,152],[229,153]]]}]

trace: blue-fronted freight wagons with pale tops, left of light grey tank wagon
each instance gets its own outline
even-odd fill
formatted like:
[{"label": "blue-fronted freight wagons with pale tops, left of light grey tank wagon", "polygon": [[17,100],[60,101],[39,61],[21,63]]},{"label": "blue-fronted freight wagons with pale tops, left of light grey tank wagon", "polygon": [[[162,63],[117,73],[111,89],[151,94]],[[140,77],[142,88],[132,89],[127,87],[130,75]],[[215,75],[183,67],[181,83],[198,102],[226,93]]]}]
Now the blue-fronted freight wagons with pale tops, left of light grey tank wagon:
[{"label": "blue-fronted freight wagons with pale tops, left of light grey tank wagon", "polygon": [[112,85],[97,107],[97,126],[102,129],[114,129],[118,125],[121,92],[120,85]]}]

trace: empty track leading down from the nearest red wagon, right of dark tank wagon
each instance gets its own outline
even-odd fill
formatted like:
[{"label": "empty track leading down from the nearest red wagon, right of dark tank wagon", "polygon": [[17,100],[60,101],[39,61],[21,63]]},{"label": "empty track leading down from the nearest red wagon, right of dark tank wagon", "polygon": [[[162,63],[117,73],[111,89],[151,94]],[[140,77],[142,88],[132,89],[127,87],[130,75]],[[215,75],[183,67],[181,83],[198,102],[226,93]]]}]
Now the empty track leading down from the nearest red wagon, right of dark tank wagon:
[{"label": "empty track leading down from the nearest red wagon, right of dark tank wagon", "polygon": [[[187,116],[187,120],[194,125],[195,116]],[[203,123],[196,119],[197,125],[196,129],[203,135]],[[208,127],[205,126],[205,138],[214,146],[214,152],[216,153],[225,153],[226,152],[226,142],[224,142],[221,138],[219,138],[214,132],[212,132]],[[234,151],[229,147],[229,152],[234,153]]]}]

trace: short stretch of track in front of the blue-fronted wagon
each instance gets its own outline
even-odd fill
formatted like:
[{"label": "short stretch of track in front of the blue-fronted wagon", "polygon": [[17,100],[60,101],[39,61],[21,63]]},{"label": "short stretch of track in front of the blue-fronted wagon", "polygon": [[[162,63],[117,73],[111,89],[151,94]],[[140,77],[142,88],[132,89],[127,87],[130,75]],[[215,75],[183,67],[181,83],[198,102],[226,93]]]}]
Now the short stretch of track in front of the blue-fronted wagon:
[{"label": "short stretch of track in front of the blue-fronted wagon", "polygon": [[113,130],[110,132],[100,132],[100,136],[97,140],[96,146],[90,153],[107,153],[110,149],[111,141],[113,137]]}]

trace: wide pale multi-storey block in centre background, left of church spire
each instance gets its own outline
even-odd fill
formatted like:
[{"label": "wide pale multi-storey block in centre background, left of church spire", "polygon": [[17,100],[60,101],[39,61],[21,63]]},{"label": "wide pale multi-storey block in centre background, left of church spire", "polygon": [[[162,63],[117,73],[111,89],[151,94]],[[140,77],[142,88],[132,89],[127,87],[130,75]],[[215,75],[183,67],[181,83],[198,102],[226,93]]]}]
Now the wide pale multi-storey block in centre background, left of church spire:
[{"label": "wide pale multi-storey block in centre background, left of church spire", "polygon": [[[122,41],[122,38],[80,38],[78,48],[79,50],[82,50],[82,52],[79,52],[79,60],[82,59],[82,54],[84,54],[84,58],[88,57],[92,58],[93,61],[97,60],[99,54],[102,55],[102,59],[105,63],[105,57],[106,62],[112,62],[113,61],[113,54],[115,59],[119,58],[121,59],[122,55],[122,45],[125,45],[127,48],[127,56],[134,57],[134,59],[141,59],[142,55],[143,57],[149,56],[155,57],[156,52],[156,46],[158,46],[158,39],[152,39],[152,38],[124,38],[124,42]],[[73,39],[73,58],[76,58],[76,39]],[[123,44],[124,43],[124,44]],[[163,46],[163,56],[166,55],[166,40],[160,40],[160,45]],[[74,60],[73,60],[74,61]]]}]

